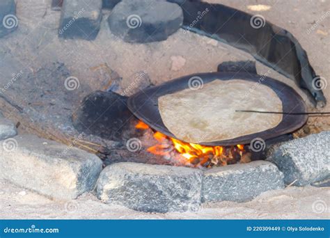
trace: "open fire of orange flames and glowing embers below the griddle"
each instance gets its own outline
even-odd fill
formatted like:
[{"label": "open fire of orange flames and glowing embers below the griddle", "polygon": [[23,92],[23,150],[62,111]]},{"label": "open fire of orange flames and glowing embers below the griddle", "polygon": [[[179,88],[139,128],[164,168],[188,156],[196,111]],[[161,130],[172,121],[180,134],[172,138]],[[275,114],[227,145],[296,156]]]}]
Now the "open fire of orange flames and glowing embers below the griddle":
[{"label": "open fire of orange flames and glowing embers below the griddle", "polygon": [[[144,130],[148,128],[149,126],[141,121],[136,125],[136,129]],[[244,162],[242,161],[242,158],[244,158],[244,145],[229,147],[198,145],[179,141],[160,132],[155,132],[153,137],[157,144],[150,146],[147,149],[148,152],[168,156],[174,148],[184,158],[184,164],[190,166],[225,166],[235,164],[238,161]]]}]

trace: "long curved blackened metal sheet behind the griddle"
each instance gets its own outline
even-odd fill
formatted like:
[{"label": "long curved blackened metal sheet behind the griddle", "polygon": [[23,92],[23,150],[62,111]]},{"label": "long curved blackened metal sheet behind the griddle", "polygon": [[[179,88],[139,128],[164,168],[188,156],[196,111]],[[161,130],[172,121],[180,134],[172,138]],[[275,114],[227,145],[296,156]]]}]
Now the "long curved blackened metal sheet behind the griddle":
[{"label": "long curved blackened metal sheet behind the griddle", "polygon": [[260,15],[250,15],[221,4],[196,0],[168,0],[184,13],[184,29],[242,49],[256,60],[294,79],[317,106],[327,103],[306,51],[294,36]]}]

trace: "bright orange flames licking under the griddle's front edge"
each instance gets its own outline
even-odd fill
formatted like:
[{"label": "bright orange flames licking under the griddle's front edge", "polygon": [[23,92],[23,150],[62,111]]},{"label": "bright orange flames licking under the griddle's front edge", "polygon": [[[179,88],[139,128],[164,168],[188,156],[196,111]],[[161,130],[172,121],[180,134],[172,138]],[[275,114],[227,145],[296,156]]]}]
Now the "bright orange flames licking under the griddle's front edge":
[{"label": "bright orange flames licking under the griddle's front edge", "polygon": [[[137,129],[148,129],[149,126],[144,122],[139,122],[136,125]],[[157,155],[167,155],[168,149],[170,145],[167,145],[166,140],[170,140],[173,143],[173,146],[177,152],[179,152],[182,157],[187,159],[187,162],[191,162],[196,158],[201,159],[200,163],[203,165],[206,161],[210,160],[210,158],[221,158],[223,156],[223,147],[222,146],[207,146],[207,145],[198,145],[194,143],[187,143],[179,141],[175,138],[171,138],[166,136],[160,132],[155,132],[153,137],[158,141],[157,145],[153,145],[149,147],[147,150],[152,154]],[[244,145],[236,145],[239,150],[239,154],[242,156],[242,152],[244,151]],[[204,158],[204,159],[203,159]],[[223,161],[223,164],[226,164],[226,161]]]}]

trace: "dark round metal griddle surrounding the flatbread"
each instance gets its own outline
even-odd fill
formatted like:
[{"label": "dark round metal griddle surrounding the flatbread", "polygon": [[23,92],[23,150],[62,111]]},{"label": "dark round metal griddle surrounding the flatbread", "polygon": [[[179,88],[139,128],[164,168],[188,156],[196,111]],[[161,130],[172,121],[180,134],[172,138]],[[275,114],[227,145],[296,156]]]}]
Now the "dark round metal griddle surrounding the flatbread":
[{"label": "dark round metal griddle surrounding the flatbread", "polygon": [[[231,79],[243,79],[246,81],[253,81],[256,83],[263,84],[272,88],[283,103],[283,112],[287,113],[305,113],[306,106],[300,95],[290,86],[283,84],[281,81],[272,79],[258,74],[247,74],[237,72],[212,72],[212,73],[201,73],[191,74],[189,76],[181,77],[179,79],[173,79],[159,86],[152,88],[146,88],[143,91],[132,95],[128,99],[129,110],[134,115],[148,124],[158,132],[162,132],[167,136],[176,138],[164,125],[162,118],[159,114],[158,109],[158,97],[163,95],[171,94],[189,88],[189,79],[191,77],[201,77],[203,83],[207,84],[215,79],[220,80],[231,80]],[[260,80],[263,79],[263,80]],[[249,90],[249,88],[246,88]],[[196,90],[198,93],[198,90]],[[270,99],[271,100],[271,99]],[[238,112],[237,112],[238,113]],[[238,145],[250,143],[253,138],[262,138],[267,140],[269,138],[275,138],[283,134],[288,134],[296,129],[299,129],[306,123],[307,115],[283,115],[282,121],[274,128],[267,129],[263,132],[249,134],[246,136],[239,136],[230,140],[224,141],[212,141],[199,143],[201,145]],[[184,122],[182,122],[184,123]],[[258,122],[256,122],[258,123]],[[179,139],[180,140],[180,139]]]}]

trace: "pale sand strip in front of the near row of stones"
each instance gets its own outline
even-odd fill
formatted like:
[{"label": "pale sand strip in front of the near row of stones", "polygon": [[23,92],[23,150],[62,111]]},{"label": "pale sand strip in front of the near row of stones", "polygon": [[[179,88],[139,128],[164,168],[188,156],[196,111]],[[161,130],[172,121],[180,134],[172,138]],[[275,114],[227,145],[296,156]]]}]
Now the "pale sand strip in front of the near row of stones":
[{"label": "pale sand strip in front of the near row of stones", "polygon": [[0,219],[330,219],[330,190],[288,187],[249,203],[206,203],[198,212],[148,214],[101,203],[92,193],[55,201],[0,180]]}]

